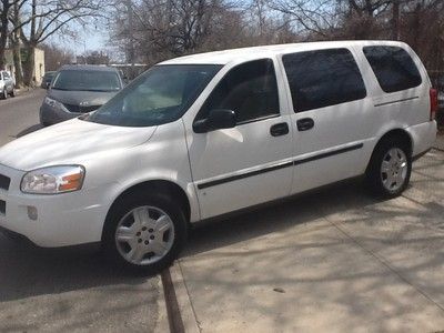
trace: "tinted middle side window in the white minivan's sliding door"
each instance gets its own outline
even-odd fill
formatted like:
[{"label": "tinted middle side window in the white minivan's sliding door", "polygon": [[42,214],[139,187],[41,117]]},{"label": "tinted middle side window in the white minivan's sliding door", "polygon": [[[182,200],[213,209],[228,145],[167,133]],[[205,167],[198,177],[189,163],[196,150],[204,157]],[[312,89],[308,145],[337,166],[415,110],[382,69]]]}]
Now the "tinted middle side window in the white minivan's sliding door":
[{"label": "tinted middle side window in the white minivan's sliding door", "polygon": [[282,58],[294,112],[365,98],[357,64],[347,49],[285,54]]}]

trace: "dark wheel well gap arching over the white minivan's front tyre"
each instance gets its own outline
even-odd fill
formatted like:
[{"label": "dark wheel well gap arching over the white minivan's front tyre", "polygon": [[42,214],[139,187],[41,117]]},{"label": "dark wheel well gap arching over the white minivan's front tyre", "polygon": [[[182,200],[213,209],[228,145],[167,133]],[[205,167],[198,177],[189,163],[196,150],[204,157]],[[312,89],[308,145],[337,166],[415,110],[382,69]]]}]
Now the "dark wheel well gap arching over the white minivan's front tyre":
[{"label": "dark wheel well gap arching over the white minivan's front tyre", "polygon": [[186,221],[188,222],[190,221],[191,208],[185,191],[183,191],[183,189],[178,184],[164,180],[147,181],[127,189],[114,200],[109,212],[111,212],[112,209],[117,204],[119,204],[119,202],[127,195],[132,195],[134,193],[140,194],[147,191],[155,191],[157,193],[163,193],[176,200],[183,213],[185,214]]}]

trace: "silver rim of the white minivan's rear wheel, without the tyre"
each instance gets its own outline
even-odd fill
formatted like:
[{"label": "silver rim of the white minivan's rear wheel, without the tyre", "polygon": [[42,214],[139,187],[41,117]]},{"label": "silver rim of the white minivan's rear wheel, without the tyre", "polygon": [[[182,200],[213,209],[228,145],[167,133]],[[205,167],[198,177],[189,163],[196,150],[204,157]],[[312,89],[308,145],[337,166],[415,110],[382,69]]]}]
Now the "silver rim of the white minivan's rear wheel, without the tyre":
[{"label": "silver rim of the white minivan's rear wheel, without the tyre", "polygon": [[407,157],[398,148],[387,151],[381,164],[381,180],[390,192],[400,190],[407,178]]}]

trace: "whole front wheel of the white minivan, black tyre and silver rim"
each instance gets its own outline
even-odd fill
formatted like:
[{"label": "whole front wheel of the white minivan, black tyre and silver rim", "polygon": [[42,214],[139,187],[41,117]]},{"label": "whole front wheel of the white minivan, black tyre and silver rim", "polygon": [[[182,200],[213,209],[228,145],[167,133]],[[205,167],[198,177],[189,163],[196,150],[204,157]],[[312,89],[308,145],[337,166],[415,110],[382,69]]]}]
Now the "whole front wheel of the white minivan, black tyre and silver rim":
[{"label": "whole front wheel of the white minivan, black tyre and silver rim", "polygon": [[111,209],[103,231],[103,250],[119,266],[158,273],[178,256],[186,240],[182,210],[160,194],[125,196]]}]

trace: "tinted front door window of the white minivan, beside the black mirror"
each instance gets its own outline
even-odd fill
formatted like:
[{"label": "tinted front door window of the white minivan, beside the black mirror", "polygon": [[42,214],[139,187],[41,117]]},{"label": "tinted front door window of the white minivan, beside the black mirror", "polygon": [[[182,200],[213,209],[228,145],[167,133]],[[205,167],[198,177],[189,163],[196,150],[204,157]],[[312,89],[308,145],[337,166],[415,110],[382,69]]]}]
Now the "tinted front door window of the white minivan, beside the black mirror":
[{"label": "tinted front door window of the white minivan, beside the black mirror", "polygon": [[273,61],[250,61],[228,72],[203,104],[198,119],[206,118],[214,109],[234,111],[238,123],[279,114]]}]

